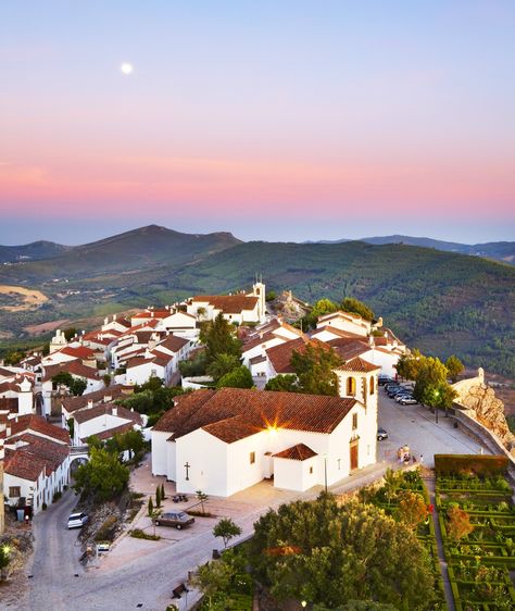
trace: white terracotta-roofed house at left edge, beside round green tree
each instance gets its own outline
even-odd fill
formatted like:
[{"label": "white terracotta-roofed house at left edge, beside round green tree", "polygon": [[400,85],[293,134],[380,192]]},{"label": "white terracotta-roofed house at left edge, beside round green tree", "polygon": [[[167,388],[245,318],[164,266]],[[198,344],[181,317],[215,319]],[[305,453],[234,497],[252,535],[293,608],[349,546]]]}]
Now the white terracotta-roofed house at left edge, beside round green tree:
[{"label": "white terracotta-roofed house at left edge, beside round green tree", "polygon": [[4,491],[11,506],[25,499],[34,514],[70,483],[70,436],[38,415],[8,423]]}]

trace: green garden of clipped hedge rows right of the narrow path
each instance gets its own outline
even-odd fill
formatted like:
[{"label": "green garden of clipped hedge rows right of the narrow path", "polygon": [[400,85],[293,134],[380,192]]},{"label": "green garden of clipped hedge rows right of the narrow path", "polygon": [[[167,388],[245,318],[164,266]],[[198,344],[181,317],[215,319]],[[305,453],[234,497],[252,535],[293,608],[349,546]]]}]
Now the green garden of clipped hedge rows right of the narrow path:
[{"label": "green garden of clipped hedge rows right of the narrow path", "polygon": [[436,507],[456,611],[514,609],[515,508],[504,469],[443,473],[438,457],[435,462]]}]

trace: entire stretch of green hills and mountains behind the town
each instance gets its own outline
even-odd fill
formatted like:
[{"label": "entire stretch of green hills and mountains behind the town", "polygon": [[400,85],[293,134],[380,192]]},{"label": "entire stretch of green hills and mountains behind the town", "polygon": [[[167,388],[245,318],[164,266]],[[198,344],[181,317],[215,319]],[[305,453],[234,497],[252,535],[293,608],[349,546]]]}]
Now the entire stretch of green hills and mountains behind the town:
[{"label": "entire stretch of green hills and mountains behind the town", "polygon": [[40,248],[39,260],[0,265],[0,285],[49,298],[37,310],[0,307],[0,339],[5,347],[30,325],[66,319],[87,328],[109,313],[247,288],[260,273],[268,289],[310,302],[355,296],[410,346],[515,378],[515,266],[427,248],[432,241],[370,239],[394,244],[242,242],[150,225],[79,247],[54,245],[45,259]]}]

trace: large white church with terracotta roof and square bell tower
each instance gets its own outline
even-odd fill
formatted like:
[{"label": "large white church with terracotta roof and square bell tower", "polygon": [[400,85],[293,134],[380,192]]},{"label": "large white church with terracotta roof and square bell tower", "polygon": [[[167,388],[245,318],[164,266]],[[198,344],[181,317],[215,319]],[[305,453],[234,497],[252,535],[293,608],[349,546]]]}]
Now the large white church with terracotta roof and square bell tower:
[{"label": "large white church with terracotta roof and square bell tower", "polygon": [[228,497],[271,479],[330,486],[376,462],[377,374],[355,358],[336,370],[337,397],[223,388],[176,398],[152,431],[152,473],[177,491]]}]

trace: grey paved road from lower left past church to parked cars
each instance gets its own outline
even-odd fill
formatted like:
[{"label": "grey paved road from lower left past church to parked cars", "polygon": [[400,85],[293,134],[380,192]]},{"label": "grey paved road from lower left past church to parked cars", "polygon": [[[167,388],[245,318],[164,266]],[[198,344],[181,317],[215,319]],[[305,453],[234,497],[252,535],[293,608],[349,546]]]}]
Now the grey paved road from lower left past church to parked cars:
[{"label": "grey paved road from lower left past church to parked cars", "polygon": [[[389,439],[379,445],[379,460],[386,461],[363,472],[357,472],[335,491],[359,487],[380,476],[388,462],[394,460],[399,446],[407,444],[417,454],[425,456],[431,465],[435,452],[477,453],[479,445],[460,429],[454,429],[450,419],[435,416],[420,406],[401,407],[379,395],[379,424],[389,432]],[[307,495],[299,495],[309,497]],[[316,496],[316,491],[311,496]],[[261,499],[263,501],[263,499]],[[162,611],[171,602],[172,589],[186,577],[188,571],[206,562],[211,552],[219,548],[219,540],[211,531],[191,533],[190,537],[174,545],[155,549],[148,541],[149,553],[114,568],[100,566],[84,571],[78,564],[79,548],[75,546],[76,532],[65,528],[66,518],[75,498],[72,492],[35,520],[36,551],[29,573],[30,591],[24,611],[126,611],[145,609]],[[284,502],[271,502],[272,507]],[[256,519],[267,510],[256,502],[244,515],[236,518],[242,537],[250,535]],[[114,553],[114,552],[113,552]],[[75,576],[75,575],[78,576]],[[193,593],[192,593],[193,594]],[[192,602],[192,594],[190,600]],[[185,600],[180,609],[186,608]]]}]

